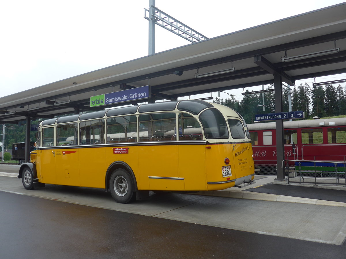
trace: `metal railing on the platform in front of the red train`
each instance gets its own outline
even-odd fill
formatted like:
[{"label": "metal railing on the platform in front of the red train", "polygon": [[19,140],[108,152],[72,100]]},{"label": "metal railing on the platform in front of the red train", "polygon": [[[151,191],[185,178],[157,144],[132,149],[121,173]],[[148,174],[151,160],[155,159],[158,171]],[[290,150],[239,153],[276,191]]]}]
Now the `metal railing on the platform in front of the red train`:
[{"label": "metal railing on the platform in front of the red train", "polygon": [[[286,159],[282,161],[282,168],[289,176],[288,184],[302,183],[303,180],[303,183],[314,183],[315,185],[319,183],[346,186],[346,180],[345,183],[340,183],[339,179],[346,176],[346,162]],[[296,178],[297,174],[299,174],[299,181],[290,180],[290,178]],[[331,178],[335,179],[335,182],[329,182]]]}]

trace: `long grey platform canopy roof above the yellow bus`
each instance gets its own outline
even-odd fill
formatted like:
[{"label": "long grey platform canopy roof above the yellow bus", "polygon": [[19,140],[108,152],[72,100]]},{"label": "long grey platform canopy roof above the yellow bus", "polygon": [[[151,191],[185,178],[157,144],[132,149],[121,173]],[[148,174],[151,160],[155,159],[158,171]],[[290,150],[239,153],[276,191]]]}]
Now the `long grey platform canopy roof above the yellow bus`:
[{"label": "long grey platform canopy roof above the yellow bus", "polygon": [[273,74],[294,85],[340,73],[346,73],[346,3],[1,97],[0,123],[104,109],[90,107],[90,97],[148,84],[153,102],[271,84]]}]

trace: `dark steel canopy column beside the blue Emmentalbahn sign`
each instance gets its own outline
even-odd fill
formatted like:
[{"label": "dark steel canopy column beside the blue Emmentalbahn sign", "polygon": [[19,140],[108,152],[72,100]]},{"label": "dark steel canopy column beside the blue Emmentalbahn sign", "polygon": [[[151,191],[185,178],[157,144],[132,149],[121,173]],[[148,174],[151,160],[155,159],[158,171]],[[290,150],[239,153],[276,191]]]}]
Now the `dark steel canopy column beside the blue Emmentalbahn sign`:
[{"label": "dark steel canopy column beside the blue Emmentalbahn sign", "polygon": [[[279,74],[274,74],[274,98],[275,98],[275,113],[281,113],[282,106],[282,81]],[[275,120],[276,128],[276,175],[277,180],[285,179],[283,168],[281,168],[284,160],[284,136],[283,136],[283,120]]]}]

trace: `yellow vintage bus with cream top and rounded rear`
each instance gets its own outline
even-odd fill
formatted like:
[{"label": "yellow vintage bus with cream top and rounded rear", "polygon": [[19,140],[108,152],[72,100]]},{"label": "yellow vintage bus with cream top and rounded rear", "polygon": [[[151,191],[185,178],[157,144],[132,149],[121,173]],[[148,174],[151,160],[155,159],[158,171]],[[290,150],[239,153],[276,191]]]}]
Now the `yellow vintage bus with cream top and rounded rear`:
[{"label": "yellow vintage bus with cream top and rounded rear", "polygon": [[110,190],[120,203],[152,191],[209,191],[254,178],[250,135],[233,109],[160,102],[47,119],[18,178]]}]

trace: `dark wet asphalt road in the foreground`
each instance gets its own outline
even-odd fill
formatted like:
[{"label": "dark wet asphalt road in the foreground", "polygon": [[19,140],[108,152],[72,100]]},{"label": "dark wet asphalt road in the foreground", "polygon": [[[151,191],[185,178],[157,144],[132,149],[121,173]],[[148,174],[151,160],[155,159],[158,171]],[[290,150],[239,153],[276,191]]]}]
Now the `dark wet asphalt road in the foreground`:
[{"label": "dark wet asphalt road in the foreground", "polygon": [[346,252],[345,243],[268,236],[1,191],[0,208],[0,258],[344,258]]}]

